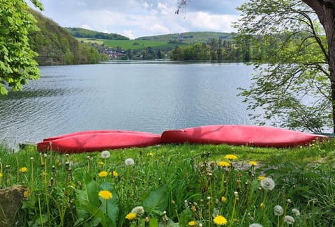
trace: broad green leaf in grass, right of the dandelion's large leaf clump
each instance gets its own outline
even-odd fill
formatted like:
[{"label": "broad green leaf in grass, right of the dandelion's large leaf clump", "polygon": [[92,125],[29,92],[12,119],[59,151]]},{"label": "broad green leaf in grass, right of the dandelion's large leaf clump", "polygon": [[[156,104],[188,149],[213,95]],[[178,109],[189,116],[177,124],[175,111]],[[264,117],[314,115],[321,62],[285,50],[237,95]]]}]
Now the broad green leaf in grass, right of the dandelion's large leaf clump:
[{"label": "broad green leaf in grass, right of the dandelion's large leaf clump", "polygon": [[144,210],[149,214],[163,212],[168,207],[167,185],[162,185],[158,189],[151,191],[142,204]]}]

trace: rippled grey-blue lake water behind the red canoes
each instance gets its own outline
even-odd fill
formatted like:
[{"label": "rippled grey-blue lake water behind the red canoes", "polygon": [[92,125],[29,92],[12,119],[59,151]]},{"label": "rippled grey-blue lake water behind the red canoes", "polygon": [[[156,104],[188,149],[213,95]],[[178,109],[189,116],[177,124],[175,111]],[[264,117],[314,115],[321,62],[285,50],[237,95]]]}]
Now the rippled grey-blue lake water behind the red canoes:
[{"label": "rippled grey-blue lake water behind the red canoes", "polygon": [[246,124],[237,87],[244,63],[122,61],[40,67],[24,91],[0,97],[0,142],[38,142],[81,130],[164,130]]}]

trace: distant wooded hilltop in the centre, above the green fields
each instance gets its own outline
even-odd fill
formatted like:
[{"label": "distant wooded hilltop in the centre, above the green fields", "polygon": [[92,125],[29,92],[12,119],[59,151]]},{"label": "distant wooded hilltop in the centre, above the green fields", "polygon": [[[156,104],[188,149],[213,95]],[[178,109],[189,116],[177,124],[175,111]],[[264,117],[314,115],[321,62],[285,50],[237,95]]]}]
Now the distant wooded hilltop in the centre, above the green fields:
[{"label": "distant wooded hilltop in the centre, above the green fields", "polygon": [[234,33],[223,33],[223,32],[211,32],[211,31],[198,31],[198,32],[186,32],[186,33],[173,33],[161,36],[144,36],[137,38],[136,40],[155,40],[155,41],[165,41],[170,43],[184,43],[184,44],[194,44],[209,42],[211,39],[218,40],[231,40],[234,37]]}]

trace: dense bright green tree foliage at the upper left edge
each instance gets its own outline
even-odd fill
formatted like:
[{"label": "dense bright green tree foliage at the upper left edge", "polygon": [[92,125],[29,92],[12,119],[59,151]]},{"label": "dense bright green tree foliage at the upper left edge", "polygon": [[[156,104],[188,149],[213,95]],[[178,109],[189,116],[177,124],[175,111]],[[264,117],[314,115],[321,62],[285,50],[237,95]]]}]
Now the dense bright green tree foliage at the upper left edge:
[{"label": "dense bright green tree foliage at the upper left edge", "polygon": [[[43,9],[38,1],[32,2]],[[38,27],[27,9],[23,0],[0,1],[0,95],[8,93],[8,87],[21,90],[29,79],[40,77],[28,40]]]}]

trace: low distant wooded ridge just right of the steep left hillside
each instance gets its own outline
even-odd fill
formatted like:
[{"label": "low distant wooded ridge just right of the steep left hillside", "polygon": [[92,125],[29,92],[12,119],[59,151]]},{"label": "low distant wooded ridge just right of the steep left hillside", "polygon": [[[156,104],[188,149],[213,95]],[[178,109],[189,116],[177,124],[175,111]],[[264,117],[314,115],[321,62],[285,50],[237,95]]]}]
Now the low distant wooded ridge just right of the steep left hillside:
[{"label": "low distant wooded ridge just right of the steep left hillside", "polygon": [[65,28],[65,29],[67,29],[72,34],[72,36],[77,38],[94,38],[101,40],[129,40],[128,37],[121,36],[115,33],[103,33],[82,28]]}]

